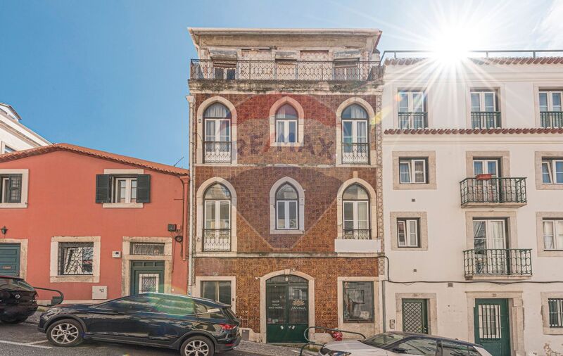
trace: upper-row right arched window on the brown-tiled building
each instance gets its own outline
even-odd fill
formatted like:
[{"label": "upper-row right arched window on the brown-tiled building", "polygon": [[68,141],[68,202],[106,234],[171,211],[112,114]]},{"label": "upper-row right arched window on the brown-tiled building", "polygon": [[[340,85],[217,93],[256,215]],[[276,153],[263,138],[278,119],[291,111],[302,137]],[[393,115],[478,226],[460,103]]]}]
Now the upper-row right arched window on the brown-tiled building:
[{"label": "upper-row right arched window on the brown-tiled building", "polygon": [[367,111],[358,104],[352,104],[342,111],[341,119],[342,163],[369,163]]}]

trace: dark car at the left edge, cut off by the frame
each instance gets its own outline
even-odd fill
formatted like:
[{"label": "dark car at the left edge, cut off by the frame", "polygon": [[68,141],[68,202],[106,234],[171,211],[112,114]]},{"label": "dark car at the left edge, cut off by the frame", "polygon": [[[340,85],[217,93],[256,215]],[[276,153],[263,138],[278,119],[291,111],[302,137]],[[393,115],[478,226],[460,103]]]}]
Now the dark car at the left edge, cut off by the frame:
[{"label": "dark car at the left edge, cut off by the frame", "polygon": [[0,275],[0,321],[17,324],[37,310],[37,292],[23,279]]}]

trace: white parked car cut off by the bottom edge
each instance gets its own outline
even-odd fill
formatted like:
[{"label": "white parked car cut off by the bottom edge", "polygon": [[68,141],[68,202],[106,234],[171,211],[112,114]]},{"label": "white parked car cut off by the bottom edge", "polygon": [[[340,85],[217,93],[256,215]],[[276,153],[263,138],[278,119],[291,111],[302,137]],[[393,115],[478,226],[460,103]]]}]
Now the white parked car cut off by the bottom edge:
[{"label": "white parked car cut off by the bottom edge", "polygon": [[322,356],[423,355],[491,356],[481,345],[421,333],[379,333],[360,341],[335,341],[319,351]]}]

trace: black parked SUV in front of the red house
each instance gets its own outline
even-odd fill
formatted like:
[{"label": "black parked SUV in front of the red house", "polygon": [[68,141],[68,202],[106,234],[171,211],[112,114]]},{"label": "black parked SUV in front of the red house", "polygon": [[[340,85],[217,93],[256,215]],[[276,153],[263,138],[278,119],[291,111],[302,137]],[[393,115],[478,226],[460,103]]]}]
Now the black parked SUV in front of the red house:
[{"label": "black parked SUV in front of the red house", "polygon": [[229,305],[214,300],[141,293],[96,305],[59,305],[44,312],[37,327],[63,347],[91,339],[212,356],[239,345],[239,324]]}]

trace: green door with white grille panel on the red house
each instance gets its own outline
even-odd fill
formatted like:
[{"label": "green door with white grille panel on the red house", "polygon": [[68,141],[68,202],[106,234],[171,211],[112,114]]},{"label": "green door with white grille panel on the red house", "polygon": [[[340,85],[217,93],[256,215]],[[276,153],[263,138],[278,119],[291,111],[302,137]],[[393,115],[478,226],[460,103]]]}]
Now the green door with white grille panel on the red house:
[{"label": "green door with white grille panel on the red house", "polygon": [[131,261],[130,294],[164,293],[164,261]]}]

